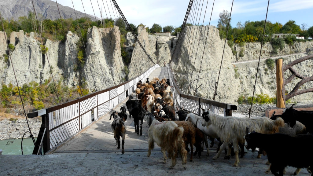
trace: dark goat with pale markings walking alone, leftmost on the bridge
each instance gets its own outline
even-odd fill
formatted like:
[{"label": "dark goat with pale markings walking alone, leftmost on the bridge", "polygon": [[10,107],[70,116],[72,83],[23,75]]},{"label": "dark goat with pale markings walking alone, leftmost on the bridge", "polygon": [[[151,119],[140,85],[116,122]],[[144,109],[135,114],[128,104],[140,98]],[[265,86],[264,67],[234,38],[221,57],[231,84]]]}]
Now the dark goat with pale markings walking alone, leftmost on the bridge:
[{"label": "dark goat with pale markings walking alone, leftmost on the bridge", "polygon": [[113,122],[111,124],[111,128],[114,132],[114,139],[117,144],[117,148],[120,149],[120,137],[122,137],[122,153],[125,153],[124,143],[125,143],[125,135],[126,135],[126,124],[123,119],[121,119],[116,111],[113,111],[110,120],[113,117]]}]

